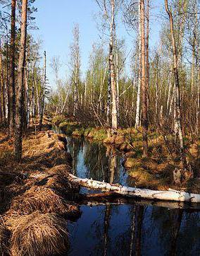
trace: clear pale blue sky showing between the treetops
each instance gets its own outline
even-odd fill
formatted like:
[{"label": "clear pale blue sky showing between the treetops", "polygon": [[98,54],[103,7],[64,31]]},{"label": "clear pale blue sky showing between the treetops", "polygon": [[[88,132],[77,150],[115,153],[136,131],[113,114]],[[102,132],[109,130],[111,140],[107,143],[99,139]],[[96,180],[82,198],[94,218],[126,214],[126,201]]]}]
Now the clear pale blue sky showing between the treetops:
[{"label": "clear pale blue sky showing between the treetops", "polygon": [[[156,44],[160,30],[160,23],[156,18],[163,7],[163,0],[154,0],[154,15],[151,18],[150,45]],[[92,44],[99,42],[101,33],[96,26],[94,16],[98,16],[99,6],[95,0],[36,0],[35,23],[39,30],[32,31],[35,39],[42,42],[42,51],[47,55],[47,76],[49,83],[54,88],[54,73],[51,71],[50,62],[52,57],[59,56],[61,60],[60,78],[68,74],[70,61],[70,45],[73,42],[73,26],[80,26],[80,51],[82,76],[85,76],[89,62],[89,54]],[[126,52],[130,52],[134,37],[129,35],[123,23],[118,23],[118,37],[125,39]]]}]

